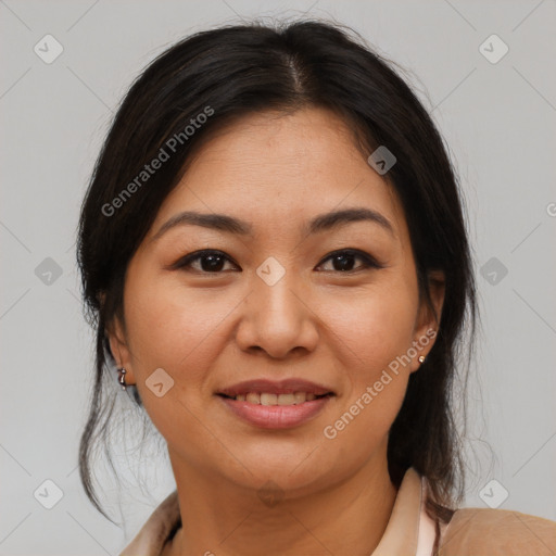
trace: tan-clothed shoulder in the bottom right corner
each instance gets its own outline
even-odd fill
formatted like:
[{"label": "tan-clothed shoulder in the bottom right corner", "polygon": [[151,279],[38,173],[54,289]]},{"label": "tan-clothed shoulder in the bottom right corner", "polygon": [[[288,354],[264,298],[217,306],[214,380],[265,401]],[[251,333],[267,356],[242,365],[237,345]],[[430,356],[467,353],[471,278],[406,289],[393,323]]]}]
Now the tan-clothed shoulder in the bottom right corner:
[{"label": "tan-clothed shoulder in the bottom right corner", "polygon": [[551,556],[556,521],[519,511],[457,509],[442,534],[439,556]]}]

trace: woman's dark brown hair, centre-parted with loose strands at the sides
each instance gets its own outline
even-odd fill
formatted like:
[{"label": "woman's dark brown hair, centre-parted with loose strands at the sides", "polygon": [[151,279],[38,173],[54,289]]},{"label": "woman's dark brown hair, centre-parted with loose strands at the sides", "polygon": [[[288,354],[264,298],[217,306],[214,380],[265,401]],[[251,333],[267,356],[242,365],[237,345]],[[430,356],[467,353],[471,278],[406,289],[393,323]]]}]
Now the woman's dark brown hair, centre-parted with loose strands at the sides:
[{"label": "woman's dark brown hair, centre-parted with loose strands at the sides", "polygon": [[[130,87],[97,161],[78,231],[84,299],[96,330],[94,384],[79,470],[89,500],[104,516],[91,480],[91,459],[97,443],[103,442],[106,448],[118,392],[105,328],[114,316],[122,317],[127,265],[195,148],[211,134],[249,113],[293,112],[303,106],[338,113],[359,138],[366,155],[379,146],[394,153],[397,162],[387,177],[404,207],[420,294],[429,304],[429,273],[445,274],[437,341],[409,378],[390,430],[388,463],[396,485],[410,466],[429,479],[429,507],[435,507],[438,515],[442,506],[462,500],[464,473],[453,387],[457,378],[459,384],[466,382],[458,361],[462,346],[471,353],[475,337],[478,309],[470,248],[446,148],[393,65],[354,31],[337,24],[302,21],[271,27],[253,23],[184,39],[156,58]],[[194,125],[203,113],[203,124]],[[161,149],[169,151],[168,144],[175,147],[170,156],[138,182],[144,165],[160,156]],[[134,179],[136,187],[129,186]],[[469,332],[468,342],[465,332]],[[128,392],[141,408],[137,389],[129,387]]]}]

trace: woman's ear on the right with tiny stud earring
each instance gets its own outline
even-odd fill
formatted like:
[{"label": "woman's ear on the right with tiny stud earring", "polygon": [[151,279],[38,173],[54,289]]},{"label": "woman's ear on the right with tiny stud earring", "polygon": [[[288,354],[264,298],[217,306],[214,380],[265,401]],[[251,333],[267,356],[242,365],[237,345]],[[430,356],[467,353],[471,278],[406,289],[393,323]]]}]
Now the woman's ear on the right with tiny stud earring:
[{"label": "woman's ear on the right with tiny stud earring", "polygon": [[446,290],[446,278],[442,270],[428,273],[428,288],[432,307],[429,306],[426,296],[422,295],[413,338],[413,346],[417,351],[417,355],[412,362],[412,372],[420,367],[419,357],[429,354],[437,339]]}]

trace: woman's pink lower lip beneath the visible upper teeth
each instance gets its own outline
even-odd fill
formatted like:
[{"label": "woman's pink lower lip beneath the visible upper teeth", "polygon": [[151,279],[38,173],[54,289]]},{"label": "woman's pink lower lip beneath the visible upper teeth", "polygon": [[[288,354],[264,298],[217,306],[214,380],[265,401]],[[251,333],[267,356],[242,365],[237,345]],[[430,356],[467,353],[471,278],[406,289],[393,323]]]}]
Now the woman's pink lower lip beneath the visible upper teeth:
[{"label": "woman's pink lower lip beneath the visible upper teeth", "polygon": [[262,429],[289,429],[313,419],[330,400],[317,397],[299,405],[260,405],[218,396],[229,409],[243,420]]}]

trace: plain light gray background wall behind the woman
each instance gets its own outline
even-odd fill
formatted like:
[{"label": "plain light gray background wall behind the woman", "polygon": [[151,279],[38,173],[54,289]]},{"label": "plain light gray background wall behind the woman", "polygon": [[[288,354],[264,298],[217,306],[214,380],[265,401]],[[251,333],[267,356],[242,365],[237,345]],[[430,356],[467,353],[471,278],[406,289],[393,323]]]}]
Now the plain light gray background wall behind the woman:
[{"label": "plain light gray background wall behind the woman", "polygon": [[[466,505],[556,519],[554,1],[5,0],[0,555],[118,554],[174,485],[164,458],[143,469],[148,490],[124,472],[118,528],[90,506],[76,470],[92,336],[78,299],[75,227],[112,111],[146,64],[185,35],[304,12],[353,26],[408,70],[462,177],[483,321]],[[64,49],[51,64],[34,52],[47,34]],[[497,63],[479,50],[492,34],[509,47]],[[46,274],[47,257],[59,277]],[[52,509],[34,497],[48,479],[64,494]],[[117,500],[108,484],[111,511]]]}]

